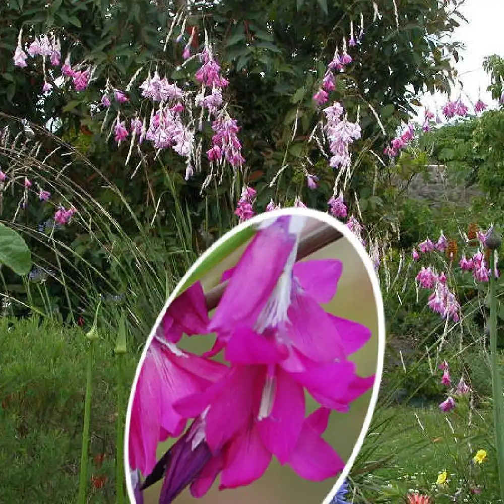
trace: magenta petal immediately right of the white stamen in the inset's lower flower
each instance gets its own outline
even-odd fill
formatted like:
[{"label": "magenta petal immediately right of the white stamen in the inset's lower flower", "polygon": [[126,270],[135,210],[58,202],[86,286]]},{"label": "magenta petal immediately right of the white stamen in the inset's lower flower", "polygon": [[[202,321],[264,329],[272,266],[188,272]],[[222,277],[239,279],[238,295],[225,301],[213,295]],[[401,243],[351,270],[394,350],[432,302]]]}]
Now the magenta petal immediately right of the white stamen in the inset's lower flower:
[{"label": "magenta petal immediately right of the white stamen in the inset's lower flower", "polygon": [[304,420],[304,391],[282,368],[277,367],[276,392],[271,414],[257,423],[264,446],[281,464],[296,446]]}]

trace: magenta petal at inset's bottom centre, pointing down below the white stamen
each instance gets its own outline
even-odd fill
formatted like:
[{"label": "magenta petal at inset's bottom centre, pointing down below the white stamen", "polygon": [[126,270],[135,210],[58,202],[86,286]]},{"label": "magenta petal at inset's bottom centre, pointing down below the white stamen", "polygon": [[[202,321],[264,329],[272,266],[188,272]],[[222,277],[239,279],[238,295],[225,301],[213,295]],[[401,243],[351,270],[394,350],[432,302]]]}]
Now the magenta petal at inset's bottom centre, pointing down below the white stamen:
[{"label": "magenta petal at inset's bottom centre, pointing down below the white stamen", "polygon": [[264,474],[270,461],[271,453],[261,442],[254,420],[251,420],[226,450],[219,490],[249,485]]}]

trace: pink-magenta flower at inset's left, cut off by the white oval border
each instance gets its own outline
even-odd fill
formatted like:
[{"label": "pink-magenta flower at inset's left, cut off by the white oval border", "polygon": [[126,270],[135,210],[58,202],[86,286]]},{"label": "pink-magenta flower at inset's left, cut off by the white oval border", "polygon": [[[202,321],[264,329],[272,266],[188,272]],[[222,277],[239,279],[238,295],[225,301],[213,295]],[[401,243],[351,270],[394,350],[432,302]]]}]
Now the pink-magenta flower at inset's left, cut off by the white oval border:
[{"label": "pink-magenta flower at inset's left, cut off by the white oval border", "polygon": [[168,435],[179,436],[186,417],[173,404],[201,393],[220,379],[227,367],[155,337],[142,364],[130,423],[129,462],[133,469],[150,474],[156,466],[156,448]]}]

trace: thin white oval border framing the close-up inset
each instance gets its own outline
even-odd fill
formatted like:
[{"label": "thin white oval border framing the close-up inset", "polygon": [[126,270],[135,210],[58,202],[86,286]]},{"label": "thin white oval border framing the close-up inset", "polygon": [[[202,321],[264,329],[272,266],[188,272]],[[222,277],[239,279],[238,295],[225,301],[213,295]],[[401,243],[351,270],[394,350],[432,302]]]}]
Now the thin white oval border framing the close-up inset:
[{"label": "thin white oval border framing the close-up inset", "polygon": [[131,422],[131,410],[133,406],[133,397],[134,397],[134,391],[137,388],[137,382],[138,382],[138,377],[140,374],[140,369],[142,367],[142,364],[145,360],[145,355],[147,353],[147,349],[149,348],[152,339],[154,337],[154,334],[156,333],[157,328],[159,325],[162,323],[164,314],[166,310],[168,309],[169,305],[172,303],[173,299],[177,296],[178,290],[180,287],[191,277],[191,275],[195,272],[195,270],[201,265],[201,263],[205,262],[205,260],[210,256],[210,254],[213,253],[213,251],[222,245],[227,239],[229,239],[231,236],[234,234],[238,233],[239,231],[248,228],[249,226],[254,226],[266,219],[271,219],[275,217],[280,217],[283,215],[299,215],[299,216],[304,216],[304,217],[311,217],[313,219],[318,219],[319,221],[324,221],[330,226],[336,228],[338,231],[340,231],[345,238],[347,238],[350,243],[353,245],[354,250],[357,252],[359,255],[360,259],[362,260],[362,263],[364,264],[364,267],[366,268],[367,276],[369,277],[369,280],[371,282],[372,288],[373,288],[373,294],[374,294],[374,300],[375,300],[375,305],[376,305],[376,311],[377,311],[377,317],[378,317],[378,358],[377,358],[377,364],[376,364],[376,373],[375,373],[375,378],[374,378],[374,384],[373,384],[373,392],[371,394],[371,400],[369,401],[369,405],[367,407],[367,413],[366,417],[364,419],[364,423],[362,424],[362,429],[360,431],[359,437],[357,438],[357,442],[355,443],[355,446],[352,450],[352,453],[350,454],[350,457],[348,458],[347,463],[345,464],[345,468],[339,475],[338,479],[336,480],[336,483],[334,484],[333,488],[329,492],[328,496],[323,500],[322,504],[331,504],[331,500],[336,496],[336,493],[338,492],[339,487],[341,484],[345,481],[345,479],[348,476],[348,473],[350,472],[350,469],[353,466],[353,463],[355,459],[357,458],[357,455],[359,453],[359,450],[364,443],[364,438],[367,434],[367,430],[369,428],[369,424],[371,423],[371,419],[374,413],[374,409],[376,406],[376,401],[378,399],[378,393],[380,391],[380,384],[382,382],[382,373],[383,373],[383,362],[384,362],[384,357],[385,357],[385,313],[384,313],[384,305],[383,305],[383,298],[382,298],[382,291],[380,290],[380,283],[378,281],[378,278],[376,277],[376,274],[374,272],[374,267],[372,265],[371,259],[367,255],[367,252],[365,248],[362,246],[360,243],[359,239],[355,234],[350,231],[346,227],[345,224],[340,222],[338,219],[332,217],[328,213],[320,212],[319,210],[313,210],[310,208],[299,208],[299,207],[289,207],[289,208],[282,208],[278,210],[273,210],[271,212],[265,212],[260,215],[257,215],[242,224],[239,224],[238,226],[234,227],[230,231],[228,231],[224,236],[219,238],[215,243],[213,243],[199,258],[198,260],[193,264],[193,266],[187,271],[187,273],[182,277],[176,288],[173,290],[172,294],[166,301],[163,309],[161,310],[156,323],[154,324],[151,333],[149,337],[147,338],[147,341],[144,345],[144,349],[142,350],[142,355],[140,357],[140,360],[137,364],[137,370],[135,372],[135,378],[133,380],[131,392],[130,392],[130,399],[128,401],[128,410],[126,412],[126,425],[125,425],[125,430],[124,430],[124,472],[126,476],[126,488],[128,490],[128,498],[130,499],[131,503],[135,503],[135,495],[133,492],[133,486],[131,484],[131,476],[130,476],[130,467],[129,467],[129,439],[130,439],[130,422]]}]

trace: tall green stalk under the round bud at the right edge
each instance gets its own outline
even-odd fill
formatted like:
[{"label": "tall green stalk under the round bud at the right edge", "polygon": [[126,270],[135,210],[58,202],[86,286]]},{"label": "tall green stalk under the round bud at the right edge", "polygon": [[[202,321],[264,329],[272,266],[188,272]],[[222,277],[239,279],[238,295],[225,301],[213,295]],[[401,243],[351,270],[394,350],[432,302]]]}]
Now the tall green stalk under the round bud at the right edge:
[{"label": "tall green stalk under the round bud at the right edge", "polygon": [[495,295],[495,249],[490,250],[490,359],[492,366],[493,422],[500,485],[500,500],[504,502],[504,414],[502,381],[497,355],[497,298]]}]

